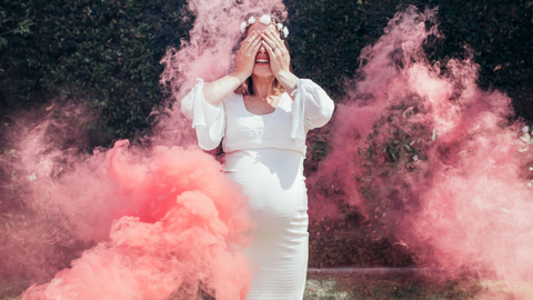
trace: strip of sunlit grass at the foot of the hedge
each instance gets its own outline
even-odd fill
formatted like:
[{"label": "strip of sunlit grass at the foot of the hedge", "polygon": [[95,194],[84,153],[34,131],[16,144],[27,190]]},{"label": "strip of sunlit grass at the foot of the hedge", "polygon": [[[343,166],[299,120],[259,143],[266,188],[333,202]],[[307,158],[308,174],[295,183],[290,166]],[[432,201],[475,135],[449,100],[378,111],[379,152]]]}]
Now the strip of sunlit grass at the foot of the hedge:
[{"label": "strip of sunlit grass at the foot of the hedge", "polygon": [[[20,300],[27,286],[1,284],[0,300]],[[533,283],[495,280],[449,280],[431,282],[420,276],[311,276],[304,300],[526,300],[533,299]],[[76,299],[72,299],[76,300]],[[127,300],[127,299],[124,299]]]}]

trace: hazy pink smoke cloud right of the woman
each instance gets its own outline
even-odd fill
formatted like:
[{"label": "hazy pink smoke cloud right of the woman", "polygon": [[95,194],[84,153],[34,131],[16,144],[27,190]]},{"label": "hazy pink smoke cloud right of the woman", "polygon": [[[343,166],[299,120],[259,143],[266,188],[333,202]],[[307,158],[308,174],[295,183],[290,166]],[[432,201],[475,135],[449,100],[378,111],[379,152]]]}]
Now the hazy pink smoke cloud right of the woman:
[{"label": "hazy pink smoke cloud right of the woman", "polygon": [[[505,94],[476,86],[474,62],[452,59],[441,69],[426,60],[424,41],[440,36],[425,24],[435,13],[396,13],[362,51],[362,79],[348,87],[332,151],[309,180],[311,216],[335,218],[346,201],[419,266],[531,281],[531,138],[510,124]],[[326,198],[313,188],[323,178],[339,192]]]}]

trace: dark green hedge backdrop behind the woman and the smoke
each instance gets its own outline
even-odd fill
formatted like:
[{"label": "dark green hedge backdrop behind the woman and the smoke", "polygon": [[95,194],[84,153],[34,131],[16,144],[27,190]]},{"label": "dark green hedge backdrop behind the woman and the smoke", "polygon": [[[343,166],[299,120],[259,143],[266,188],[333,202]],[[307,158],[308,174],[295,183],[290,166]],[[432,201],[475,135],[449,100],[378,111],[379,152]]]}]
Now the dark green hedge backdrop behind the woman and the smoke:
[{"label": "dark green hedge backdrop behind the woman and the smoke", "polygon": [[[86,127],[108,134],[100,143],[149,132],[149,113],[164,102],[159,61],[168,46],[188,39],[194,20],[184,0],[0,3],[0,117],[72,100],[98,116]],[[408,4],[439,6],[445,39],[428,41],[429,59],[445,66],[450,58],[472,57],[480,64],[479,84],[509,93],[516,118],[533,122],[533,1],[294,0],[285,4],[295,74],[314,80],[338,102],[346,93],[346,79],[361,63],[361,49],[382,34],[395,11]],[[328,153],[326,133],[311,137],[308,172]],[[365,238],[358,212],[346,209],[346,219],[358,230],[346,231],[345,224],[331,220],[311,224],[312,266],[412,263],[392,239]]]}]

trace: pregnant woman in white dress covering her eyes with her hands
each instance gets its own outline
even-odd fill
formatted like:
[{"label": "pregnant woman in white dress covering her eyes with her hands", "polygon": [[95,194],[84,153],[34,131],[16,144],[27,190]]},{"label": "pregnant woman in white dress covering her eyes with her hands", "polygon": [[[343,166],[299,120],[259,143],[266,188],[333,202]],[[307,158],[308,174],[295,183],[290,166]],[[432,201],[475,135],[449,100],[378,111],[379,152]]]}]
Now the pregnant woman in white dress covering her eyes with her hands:
[{"label": "pregnant woman in white dress covering her eyes with her hands", "polygon": [[249,299],[301,300],[308,264],[305,134],[330,120],[334,104],[314,82],[291,72],[289,32],[276,19],[251,17],[241,31],[234,72],[200,80],[181,108],[201,148],[222,141],[224,172],[249,197],[258,223],[244,251],[254,270]]}]

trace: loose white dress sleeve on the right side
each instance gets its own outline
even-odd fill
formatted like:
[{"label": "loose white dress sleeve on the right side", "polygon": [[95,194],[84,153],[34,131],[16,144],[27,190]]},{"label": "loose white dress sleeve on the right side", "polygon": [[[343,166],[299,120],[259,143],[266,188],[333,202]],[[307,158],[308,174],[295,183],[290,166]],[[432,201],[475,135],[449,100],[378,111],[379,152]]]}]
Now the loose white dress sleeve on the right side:
[{"label": "loose white dress sleeve on the right side", "polygon": [[305,143],[305,130],[323,127],[333,114],[333,100],[316,83],[309,79],[299,79],[292,103],[291,138],[298,147]]}]

